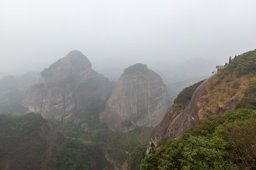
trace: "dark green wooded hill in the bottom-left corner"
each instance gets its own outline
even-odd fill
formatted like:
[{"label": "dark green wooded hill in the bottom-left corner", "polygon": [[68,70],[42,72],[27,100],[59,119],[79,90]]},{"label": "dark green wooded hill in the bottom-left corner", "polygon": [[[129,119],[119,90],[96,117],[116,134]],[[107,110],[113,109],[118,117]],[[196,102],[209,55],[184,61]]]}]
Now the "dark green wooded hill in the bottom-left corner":
[{"label": "dark green wooded hill in the bottom-left corner", "polygon": [[38,114],[0,115],[0,169],[37,170],[42,164],[46,140],[40,127],[46,121]]}]

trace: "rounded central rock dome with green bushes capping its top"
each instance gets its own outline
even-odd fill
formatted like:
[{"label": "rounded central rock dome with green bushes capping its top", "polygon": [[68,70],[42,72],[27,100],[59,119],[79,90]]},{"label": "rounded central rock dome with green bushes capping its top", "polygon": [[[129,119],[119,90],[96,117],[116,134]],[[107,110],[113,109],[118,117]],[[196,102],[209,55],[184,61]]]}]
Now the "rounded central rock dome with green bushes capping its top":
[{"label": "rounded central rock dome with green bushes capping its top", "polygon": [[100,119],[114,130],[135,126],[155,127],[167,110],[166,87],[162,78],[146,65],[125,69],[106,103]]}]

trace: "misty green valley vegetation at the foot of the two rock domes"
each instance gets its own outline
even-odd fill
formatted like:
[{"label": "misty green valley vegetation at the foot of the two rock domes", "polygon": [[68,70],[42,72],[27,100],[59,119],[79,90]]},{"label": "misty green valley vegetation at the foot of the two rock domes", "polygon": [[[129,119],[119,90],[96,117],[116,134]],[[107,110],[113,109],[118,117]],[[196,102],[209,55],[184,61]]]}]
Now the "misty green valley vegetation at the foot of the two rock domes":
[{"label": "misty green valley vegetation at the foot of the two rock domes", "polygon": [[135,127],[126,133],[114,132],[101,123],[99,113],[105,109],[105,102],[91,101],[78,115],[79,121],[61,122],[49,120],[64,136],[79,139],[82,144],[101,145],[110,158],[122,164],[137,145],[148,142],[151,127]]}]

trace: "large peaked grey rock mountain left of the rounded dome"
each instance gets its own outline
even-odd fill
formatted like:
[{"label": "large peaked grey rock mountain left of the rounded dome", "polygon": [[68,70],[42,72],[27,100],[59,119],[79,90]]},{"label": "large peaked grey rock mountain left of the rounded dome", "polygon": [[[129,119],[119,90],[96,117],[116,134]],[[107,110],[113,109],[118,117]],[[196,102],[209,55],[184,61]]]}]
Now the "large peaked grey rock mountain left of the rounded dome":
[{"label": "large peaked grey rock mountain left of the rounded dome", "polygon": [[68,120],[82,111],[88,101],[105,101],[110,95],[107,78],[91,68],[80,51],[71,51],[41,72],[22,104],[43,118]]}]

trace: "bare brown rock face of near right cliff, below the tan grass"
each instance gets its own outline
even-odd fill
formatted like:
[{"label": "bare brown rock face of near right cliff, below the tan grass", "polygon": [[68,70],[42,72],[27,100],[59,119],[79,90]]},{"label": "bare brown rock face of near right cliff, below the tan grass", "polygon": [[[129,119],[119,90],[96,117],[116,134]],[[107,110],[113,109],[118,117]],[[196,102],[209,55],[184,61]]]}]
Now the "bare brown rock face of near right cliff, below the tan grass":
[{"label": "bare brown rock face of near right cliff, below the tan grass", "polygon": [[177,137],[192,127],[196,127],[200,124],[198,117],[197,102],[201,96],[206,93],[206,85],[211,78],[205,80],[193,93],[192,99],[186,108],[180,112],[179,108],[171,107],[165,114],[164,119],[159,125],[155,127],[151,134],[150,142],[147,146],[147,153],[149,152],[151,143],[157,146],[157,143],[165,137],[167,140]]}]

